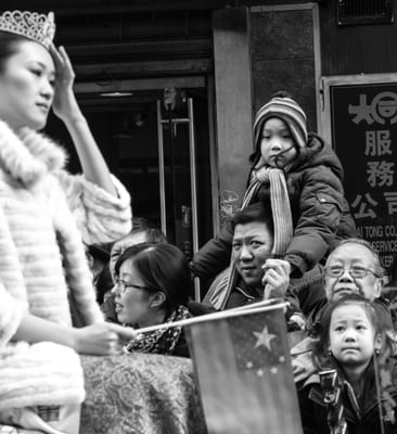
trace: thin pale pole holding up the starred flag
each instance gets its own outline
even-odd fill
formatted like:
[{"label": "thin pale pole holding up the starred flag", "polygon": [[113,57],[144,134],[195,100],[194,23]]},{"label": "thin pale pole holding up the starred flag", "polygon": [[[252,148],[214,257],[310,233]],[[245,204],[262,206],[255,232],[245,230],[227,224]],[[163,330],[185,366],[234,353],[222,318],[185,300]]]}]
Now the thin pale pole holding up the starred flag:
[{"label": "thin pale pole holding up the starred flag", "polygon": [[235,308],[228,309],[228,310],[201,315],[201,316],[194,317],[194,318],[187,318],[187,319],[181,319],[179,321],[163,322],[161,324],[149,326],[149,327],[144,327],[142,329],[135,329],[135,331],[137,334],[149,333],[149,332],[154,332],[159,329],[169,329],[171,327],[184,327],[184,326],[194,324],[197,322],[235,317],[236,315],[247,315],[247,314],[252,314],[252,312],[256,314],[256,312],[261,312],[261,311],[285,308],[289,305],[290,304],[287,302],[281,302],[280,298],[266,299],[262,302],[253,303],[253,304],[249,304],[246,306],[240,306],[240,307],[235,307]]}]

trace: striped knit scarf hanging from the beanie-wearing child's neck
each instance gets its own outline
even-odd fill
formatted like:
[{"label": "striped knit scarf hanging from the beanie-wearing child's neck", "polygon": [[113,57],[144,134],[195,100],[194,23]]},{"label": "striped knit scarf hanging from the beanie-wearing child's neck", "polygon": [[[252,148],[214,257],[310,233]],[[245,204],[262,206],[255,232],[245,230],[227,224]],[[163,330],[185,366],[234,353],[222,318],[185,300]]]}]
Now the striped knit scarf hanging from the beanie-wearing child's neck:
[{"label": "striped knit scarf hanging from the beanie-wearing child's neck", "polygon": [[[245,208],[255,201],[257,191],[262,183],[270,184],[270,206],[274,227],[271,253],[278,257],[286,252],[294,231],[284,171],[279,168],[266,166],[254,169],[252,180],[244,194],[242,208]],[[210,298],[210,303],[217,309],[225,308],[229,295],[236,283],[238,273],[235,264],[231,263],[229,269],[230,272],[223,276]]]}]

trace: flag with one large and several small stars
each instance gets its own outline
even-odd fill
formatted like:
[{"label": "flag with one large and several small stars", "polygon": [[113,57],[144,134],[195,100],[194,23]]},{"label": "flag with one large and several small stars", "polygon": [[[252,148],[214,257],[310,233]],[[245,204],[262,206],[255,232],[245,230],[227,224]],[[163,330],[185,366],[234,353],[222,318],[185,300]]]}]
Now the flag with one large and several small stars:
[{"label": "flag with one large and several small stars", "polygon": [[210,434],[302,434],[282,305],[187,332]]}]

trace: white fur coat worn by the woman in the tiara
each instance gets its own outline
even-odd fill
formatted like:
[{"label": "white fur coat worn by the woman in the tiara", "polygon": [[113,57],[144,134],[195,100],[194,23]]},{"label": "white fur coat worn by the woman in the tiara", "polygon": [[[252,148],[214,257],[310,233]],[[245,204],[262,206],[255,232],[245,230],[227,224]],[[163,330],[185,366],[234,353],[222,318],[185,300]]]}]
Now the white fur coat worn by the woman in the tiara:
[{"label": "white fur coat worn by the woman in the tiara", "polygon": [[69,326],[68,295],[84,323],[102,321],[81,239],[110,242],[130,230],[124,187],[113,178],[115,197],[64,164],[49,139],[27,129],[17,137],[0,120],[0,408],[82,399],[72,349],[8,342],[26,310]]}]

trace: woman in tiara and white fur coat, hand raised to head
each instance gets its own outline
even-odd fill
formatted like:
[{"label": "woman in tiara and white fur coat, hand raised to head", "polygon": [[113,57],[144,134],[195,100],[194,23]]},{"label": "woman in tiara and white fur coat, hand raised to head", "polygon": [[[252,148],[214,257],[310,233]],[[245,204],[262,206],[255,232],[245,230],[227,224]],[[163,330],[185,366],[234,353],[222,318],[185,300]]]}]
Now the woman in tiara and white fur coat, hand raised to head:
[{"label": "woman in tiara and white fur coat, hand raised to head", "polygon": [[[111,355],[119,337],[132,337],[103,321],[82,244],[129,232],[129,194],[108,173],[53,35],[52,14],[0,16],[0,423],[35,425],[26,409],[25,422],[15,416],[30,406],[78,407],[77,353]],[[80,176],[65,170],[64,150],[38,132],[51,107],[74,140]]]}]

